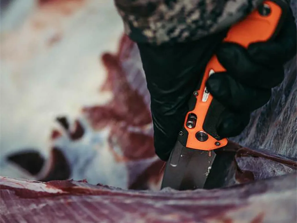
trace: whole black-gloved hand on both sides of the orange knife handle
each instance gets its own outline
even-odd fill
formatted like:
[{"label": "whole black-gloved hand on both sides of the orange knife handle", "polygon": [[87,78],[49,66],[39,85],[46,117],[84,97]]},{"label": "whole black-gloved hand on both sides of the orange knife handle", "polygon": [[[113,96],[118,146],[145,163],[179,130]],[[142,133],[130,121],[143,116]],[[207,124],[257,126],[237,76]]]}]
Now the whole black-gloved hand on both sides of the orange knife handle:
[{"label": "whole black-gloved hand on both sides of the orange knife handle", "polygon": [[213,74],[207,88],[225,107],[217,123],[221,137],[236,136],[249,123],[250,113],[271,97],[271,88],[284,78],[283,65],[296,54],[293,14],[272,42],[246,50],[222,43],[227,30],[198,41],[175,45],[138,44],[151,95],[155,152],[167,161],[188,111],[188,100],[215,53],[227,72]]}]

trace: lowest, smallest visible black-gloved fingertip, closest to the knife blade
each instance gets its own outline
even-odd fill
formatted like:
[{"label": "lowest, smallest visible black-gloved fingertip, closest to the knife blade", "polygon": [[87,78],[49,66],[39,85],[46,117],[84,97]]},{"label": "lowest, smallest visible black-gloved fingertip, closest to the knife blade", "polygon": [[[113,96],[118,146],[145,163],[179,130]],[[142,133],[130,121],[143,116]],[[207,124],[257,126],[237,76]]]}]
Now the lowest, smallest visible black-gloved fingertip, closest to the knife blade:
[{"label": "lowest, smallest visible black-gloved fingertip, closest to the knife blade", "polygon": [[236,114],[225,110],[217,123],[217,133],[220,137],[238,136],[249,124],[250,114]]}]

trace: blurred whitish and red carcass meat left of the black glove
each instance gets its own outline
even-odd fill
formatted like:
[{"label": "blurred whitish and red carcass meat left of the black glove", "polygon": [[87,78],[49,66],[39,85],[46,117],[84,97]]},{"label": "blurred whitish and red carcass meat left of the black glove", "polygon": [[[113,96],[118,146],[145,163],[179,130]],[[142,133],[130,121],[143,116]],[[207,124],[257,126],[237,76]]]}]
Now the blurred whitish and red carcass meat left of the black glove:
[{"label": "blurred whitish and red carcass meat left of the black glove", "polygon": [[158,188],[142,64],[113,2],[22,4],[1,18],[1,175]]}]

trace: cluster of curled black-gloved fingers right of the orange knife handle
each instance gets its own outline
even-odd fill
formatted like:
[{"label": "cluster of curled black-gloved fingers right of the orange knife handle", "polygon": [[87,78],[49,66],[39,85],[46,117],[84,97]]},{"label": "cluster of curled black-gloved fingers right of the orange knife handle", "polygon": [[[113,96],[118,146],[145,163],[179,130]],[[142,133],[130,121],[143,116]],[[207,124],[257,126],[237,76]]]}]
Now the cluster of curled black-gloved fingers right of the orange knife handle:
[{"label": "cluster of curled black-gloved fingers right of the orange knife handle", "polygon": [[271,88],[284,78],[283,65],[296,54],[296,24],[292,12],[287,15],[279,35],[273,40],[249,45],[222,43],[216,51],[227,72],[208,78],[209,92],[227,109],[217,123],[221,137],[239,135],[249,123],[252,111],[271,97]]}]

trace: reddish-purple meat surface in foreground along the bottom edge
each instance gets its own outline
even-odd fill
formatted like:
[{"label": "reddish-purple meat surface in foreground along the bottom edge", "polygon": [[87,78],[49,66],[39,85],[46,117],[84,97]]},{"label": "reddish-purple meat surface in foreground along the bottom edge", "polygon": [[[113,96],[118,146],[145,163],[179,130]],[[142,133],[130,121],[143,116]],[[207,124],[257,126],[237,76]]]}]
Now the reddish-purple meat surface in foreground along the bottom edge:
[{"label": "reddish-purple meat surface in foreground along the bottom edge", "polygon": [[296,222],[296,174],[226,189],[134,191],[0,178],[1,222]]}]

